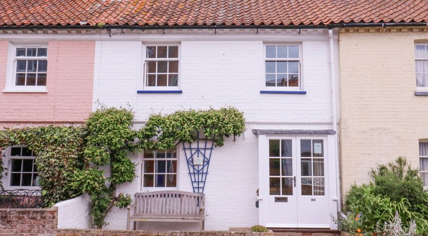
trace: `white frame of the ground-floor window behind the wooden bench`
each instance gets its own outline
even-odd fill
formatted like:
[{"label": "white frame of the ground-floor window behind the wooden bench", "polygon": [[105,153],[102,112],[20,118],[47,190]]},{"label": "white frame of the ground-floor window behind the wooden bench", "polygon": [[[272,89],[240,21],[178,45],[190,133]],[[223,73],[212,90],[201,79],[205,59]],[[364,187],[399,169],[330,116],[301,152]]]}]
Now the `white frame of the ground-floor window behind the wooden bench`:
[{"label": "white frame of the ground-floor window behind the wooden bench", "polygon": [[[164,159],[160,159],[160,158],[144,158],[144,150],[142,152],[140,152],[140,156],[141,156],[141,183],[140,183],[140,190],[141,191],[146,191],[146,192],[151,192],[151,191],[163,191],[163,190],[179,190],[179,180],[180,180],[180,156],[179,156],[179,148],[176,148],[176,158],[164,158]],[[155,166],[155,162],[156,161],[177,161],[177,170],[176,170],[176,187],[144,187],[144,161],[154,161],[154,166]],[[154,167],[155,168],[155,167]],[[155,171],[155,170],[154,170]],[[155,181],[155,174],[156,173],[148,173],[148,174],[153,174],[153,182]],[[165,173],[165,178],[166,178],[166,174]],[[165,180],[166,181],[166,180]],[[153,183],[154,184],[154,183]]]}]

